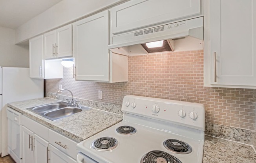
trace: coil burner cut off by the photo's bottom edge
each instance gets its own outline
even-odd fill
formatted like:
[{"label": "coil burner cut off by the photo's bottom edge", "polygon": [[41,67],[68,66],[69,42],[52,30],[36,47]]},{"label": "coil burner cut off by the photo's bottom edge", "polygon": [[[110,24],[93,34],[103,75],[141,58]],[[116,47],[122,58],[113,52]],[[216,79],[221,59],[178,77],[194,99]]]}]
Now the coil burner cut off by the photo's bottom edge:
[{"label": "coil burner cut off by the photo's bottom edge", "polygon": [[141,158],[141,163],[182,163],[176,157],[161,151],[152,150]]}]

